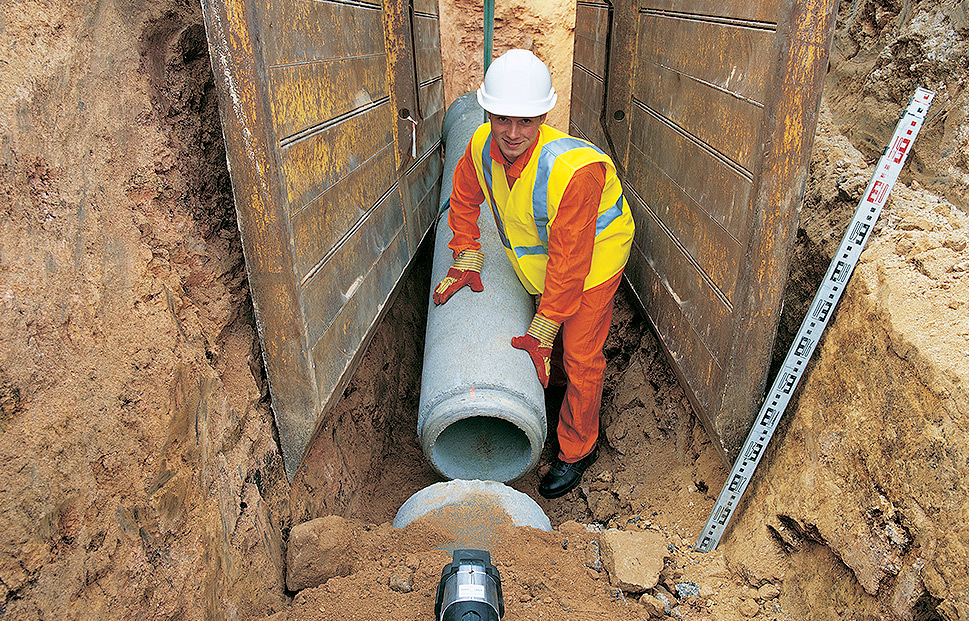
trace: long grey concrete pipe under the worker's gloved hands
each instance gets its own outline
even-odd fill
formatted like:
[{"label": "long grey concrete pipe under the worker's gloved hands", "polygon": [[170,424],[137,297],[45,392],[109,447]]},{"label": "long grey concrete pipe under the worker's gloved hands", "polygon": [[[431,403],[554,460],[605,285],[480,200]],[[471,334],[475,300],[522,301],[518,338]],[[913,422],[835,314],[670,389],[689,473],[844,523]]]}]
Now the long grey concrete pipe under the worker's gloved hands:
[{"label": "long grey concrete pipe under the worker's gloved hands", "polygon": [[[444,117],[441,201],[483,111],[468,93]],[[447,211],[438,221],[431,288],[452,264]],[[484,291],[465,287],[446,304],[428,301],[417,433],[431,465],[449,479],[513,481],[536,466],[547,435],[545,396],[532,362],[514,349],[534,315],[483,206],[478,219]]]}]

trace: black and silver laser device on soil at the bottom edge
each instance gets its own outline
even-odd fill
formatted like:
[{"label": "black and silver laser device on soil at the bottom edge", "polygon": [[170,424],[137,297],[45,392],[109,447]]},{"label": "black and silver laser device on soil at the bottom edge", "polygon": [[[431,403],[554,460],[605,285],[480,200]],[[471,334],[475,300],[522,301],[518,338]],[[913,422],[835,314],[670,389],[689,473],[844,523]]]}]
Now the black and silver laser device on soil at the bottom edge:
[{"label": "black and silver laser device on soil at the bottom edge", "polygon": [[436,621],[499,621],[505,615],[501,575],[485,550],[455,550],[441,571]]}]

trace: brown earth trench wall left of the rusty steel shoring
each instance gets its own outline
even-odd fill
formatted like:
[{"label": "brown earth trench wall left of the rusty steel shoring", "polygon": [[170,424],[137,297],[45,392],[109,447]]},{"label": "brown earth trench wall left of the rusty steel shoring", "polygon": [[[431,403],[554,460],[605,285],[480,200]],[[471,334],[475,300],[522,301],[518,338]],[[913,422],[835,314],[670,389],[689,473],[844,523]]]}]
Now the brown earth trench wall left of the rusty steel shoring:
[{"label": "brown earth trench wall left of the rusty steel shoring", "polygon": [[0,50],[0,616],[278,610],[288,484],[199,6],[5,4]]}]

